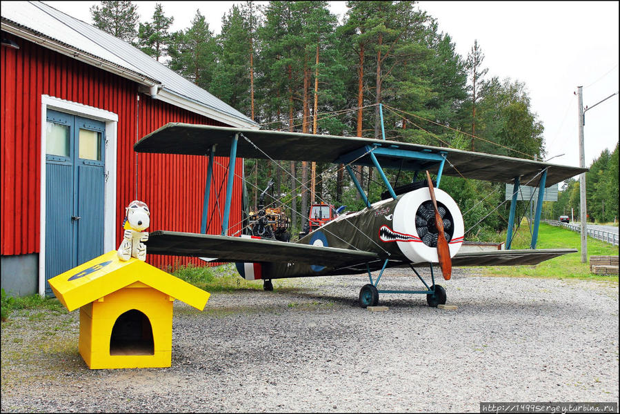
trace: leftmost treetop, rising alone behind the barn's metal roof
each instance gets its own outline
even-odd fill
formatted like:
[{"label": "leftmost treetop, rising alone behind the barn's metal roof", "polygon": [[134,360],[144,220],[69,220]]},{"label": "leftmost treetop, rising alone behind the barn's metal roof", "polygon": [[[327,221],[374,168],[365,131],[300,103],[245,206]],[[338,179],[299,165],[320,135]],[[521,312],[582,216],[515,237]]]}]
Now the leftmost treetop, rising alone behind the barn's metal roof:
[{"label": "leftmost treetop, rising alone behind the barn's metal roof", "polygon": [[101,7],[90,7],[90,16],[97,28],[134,44],[138,12],[132,1],[101,1]]}]

